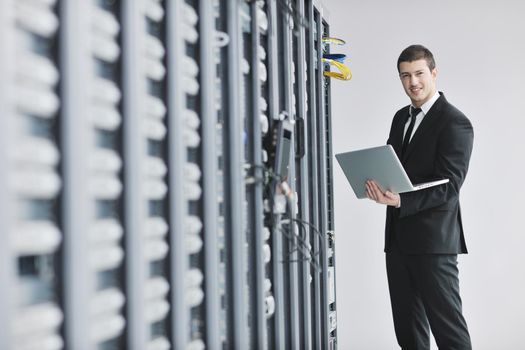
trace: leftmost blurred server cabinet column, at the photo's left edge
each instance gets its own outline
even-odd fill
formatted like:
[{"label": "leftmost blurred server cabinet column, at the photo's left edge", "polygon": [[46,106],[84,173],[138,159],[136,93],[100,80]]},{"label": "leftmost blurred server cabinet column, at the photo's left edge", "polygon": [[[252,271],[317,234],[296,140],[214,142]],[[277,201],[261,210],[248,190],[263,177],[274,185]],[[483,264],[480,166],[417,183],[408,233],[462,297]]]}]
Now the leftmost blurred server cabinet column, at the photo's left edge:
[{"label": "leftmost blurred server cabinet column, at the photo's left edge", "polygon": [[60,19],[54,1],[3,1],[0,7],[0,346],[30,349],[45,344],[58,349],[64,344],[56,45]]}]

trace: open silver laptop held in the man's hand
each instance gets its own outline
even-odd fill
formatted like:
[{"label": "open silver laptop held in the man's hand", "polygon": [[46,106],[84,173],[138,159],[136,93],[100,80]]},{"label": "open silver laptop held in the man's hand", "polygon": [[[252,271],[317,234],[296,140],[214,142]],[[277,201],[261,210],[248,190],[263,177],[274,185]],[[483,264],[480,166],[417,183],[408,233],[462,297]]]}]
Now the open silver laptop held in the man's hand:
[{"label": "open silver laptop held in the man's hand", "polygon": [[418,191],[441,185],[448,179],[413,185],[391,145],[335,155],[357,198],[366,198],[366,180],[375,180],[381,190],[394,193]]}]

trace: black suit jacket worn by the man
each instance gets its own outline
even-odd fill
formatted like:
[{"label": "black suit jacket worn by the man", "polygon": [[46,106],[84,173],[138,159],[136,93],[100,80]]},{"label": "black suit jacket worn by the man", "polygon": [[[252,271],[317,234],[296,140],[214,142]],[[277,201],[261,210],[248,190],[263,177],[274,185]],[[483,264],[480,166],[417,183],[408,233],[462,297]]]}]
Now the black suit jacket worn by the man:
[{"label": "black suit jacket worn by the man", "polygon": [[467,117],[443,93],[416,129],[401,157],[409,106],[394,116],[387,143],[392,145],[412,183],[447,178],[447,184],[402,193],[399,209],[388,206],[385,252],[394,240],[406,254],[467,253],[459,190],[467,175],[474,132]]}]

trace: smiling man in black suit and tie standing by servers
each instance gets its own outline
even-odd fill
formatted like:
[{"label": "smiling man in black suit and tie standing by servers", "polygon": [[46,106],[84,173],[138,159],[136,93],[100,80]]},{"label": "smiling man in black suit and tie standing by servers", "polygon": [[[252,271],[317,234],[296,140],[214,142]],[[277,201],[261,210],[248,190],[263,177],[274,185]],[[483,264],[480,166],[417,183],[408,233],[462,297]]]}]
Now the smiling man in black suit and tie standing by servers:
[{"label": "smiling man in black suit and tie standing by servers", "polygon": [[441,350],[471,349],[459,294],[457,254],[467,253],[459,190],[472,152],[470,121],[436,91],[432,53],[403,50],[399,77],[411,105],[394,116],[387,143],[413,183],[446,184],[396,194],[373,180],[368,198],[387,205],[385,253],[396,337],[402,349],[430,349],[429,326]]}]

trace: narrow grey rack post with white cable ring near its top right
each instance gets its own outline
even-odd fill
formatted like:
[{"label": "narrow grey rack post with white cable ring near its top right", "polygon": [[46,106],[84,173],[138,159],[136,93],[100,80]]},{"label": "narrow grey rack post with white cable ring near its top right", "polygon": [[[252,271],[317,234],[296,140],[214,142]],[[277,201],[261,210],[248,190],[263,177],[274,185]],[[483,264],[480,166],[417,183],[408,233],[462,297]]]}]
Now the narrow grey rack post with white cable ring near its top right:
[{"label": "narrow grey rack post with white cable ring near its top right", "polygon": [[[224,296],[224,270],[220,268],[221,250],[224,245],[224,218],[221,215],[219,198],[223,198],[223,175],[219,170],[219,158],[223,154],[218,124],[218,111],[221,103],[217,94],[217,43],[215,20],[218,15],[217,1],[201,1],[200,12],[200,62],[201,62],[201,134],[202,134],[202,160],[203,160],[203,201],[204,201],[204,270],[205,270],[205,343],[210,349],[222,348],[225,327],[221,320],[221,297]],[[221,36],[222,38],[222,36]],[[219,59],[220,61],[220,59]]]}]

